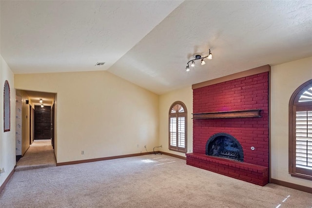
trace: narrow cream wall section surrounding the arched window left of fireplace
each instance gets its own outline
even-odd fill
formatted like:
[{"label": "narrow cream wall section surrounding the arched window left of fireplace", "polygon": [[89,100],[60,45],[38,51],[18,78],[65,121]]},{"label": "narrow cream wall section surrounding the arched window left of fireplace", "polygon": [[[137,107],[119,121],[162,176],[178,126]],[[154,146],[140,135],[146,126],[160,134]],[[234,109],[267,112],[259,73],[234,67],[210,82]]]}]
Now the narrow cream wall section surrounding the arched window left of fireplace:
[{"label": "narrow cream wall section surrounding the arched window left of fireplace", "polygon": [[187,87],[159,96],[159,145],[160,151],[169,152],[185,157],[185,153],[169,150],[169,108],[176,102],[181,101],[187,108],[187,152],[193,152],[193,90]]}]

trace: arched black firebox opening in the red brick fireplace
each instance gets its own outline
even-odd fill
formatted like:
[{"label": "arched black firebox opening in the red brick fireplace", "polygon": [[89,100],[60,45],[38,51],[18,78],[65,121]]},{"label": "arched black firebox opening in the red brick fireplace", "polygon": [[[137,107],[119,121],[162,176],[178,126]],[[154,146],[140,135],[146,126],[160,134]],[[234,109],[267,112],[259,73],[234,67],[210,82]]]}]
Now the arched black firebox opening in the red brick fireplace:
[{"label": "arched black firebox opening in the red brick fireplace", "polygon": [[206,143],[206,155],[225,157],[244,162],[244,152],[239,142],[230,134],[216,133]]}]

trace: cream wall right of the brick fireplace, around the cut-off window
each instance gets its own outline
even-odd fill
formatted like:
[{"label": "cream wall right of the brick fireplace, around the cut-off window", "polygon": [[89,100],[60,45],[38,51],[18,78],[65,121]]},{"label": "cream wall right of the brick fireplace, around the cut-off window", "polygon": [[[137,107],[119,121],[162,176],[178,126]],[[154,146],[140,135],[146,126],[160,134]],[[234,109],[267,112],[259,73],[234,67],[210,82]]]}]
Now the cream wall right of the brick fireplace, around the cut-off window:
[{"label": "cream wall right of the brick fireplace, around the cut-off window", "polygon": [[312,57],[271,67],[271,174],[273,179],[312,187],[288,173],[288,105],[292,93],[312,79]]}]

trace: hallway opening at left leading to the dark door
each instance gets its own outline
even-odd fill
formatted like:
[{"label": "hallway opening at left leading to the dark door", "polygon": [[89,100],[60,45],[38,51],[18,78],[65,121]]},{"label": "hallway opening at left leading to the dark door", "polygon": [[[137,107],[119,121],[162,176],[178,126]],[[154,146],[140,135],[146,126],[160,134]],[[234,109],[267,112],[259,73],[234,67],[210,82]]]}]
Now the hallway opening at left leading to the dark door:
[{"label": "hallway opening at left leading to the dark door", "polygon": [[[52,155],[51,160],[46,159],[45,161],[55,161],[54,118],[56,112],[54,109],[57,94],[16,90],[16,95],[17,100],[20,100],[19,103],[17,102],[16,108],[17,111],[21,112],[20,118],[16,119],[17,121],[20,121],[20,123],[17,123],[16,125],[19,125],[21,129],[20,137],[16,138],[16,150],[19,150],[19,152],[16,152],[17,158],[19,157],[21,161],[24,156],[29,157],[29,154],[32,153],[32,155],[41,155],[32,158],[32,160],[37,160],[38,158],[38,161],[33,161],[33,164],[44,163],[44,161],[40,162],[40,157],[43,158],[42,155],[44,155],[44,157]],[[46,147],[42,148],[41,143],[44,143],[44,146]],[[47,149],[49,149],[49,151],[46,151]],[[51,151],[53,152],[52,154]],[[17,162],[18,161],[19,160],[17,159]],[[19,166],[19,163],[17,165]],[[23,166],[24,165],[25,164],[23,164]],[[41,164],[40,167],[45,167],[46,165],[47,164]]]}]

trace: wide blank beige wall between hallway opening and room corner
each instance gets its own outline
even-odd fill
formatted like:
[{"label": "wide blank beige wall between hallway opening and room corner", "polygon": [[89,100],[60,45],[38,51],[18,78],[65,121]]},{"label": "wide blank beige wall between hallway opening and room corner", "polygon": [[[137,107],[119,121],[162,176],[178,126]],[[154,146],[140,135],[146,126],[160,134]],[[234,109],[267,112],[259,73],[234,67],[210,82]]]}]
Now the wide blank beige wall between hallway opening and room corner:
[{"label": "wide blank beige wall between hallway opening and room corner", "polygon": [[15,75],[15,87],[57,93],[58,163],[140,153],[144,145],[152,151],[158,144],[158,95],[109,72]]}]

